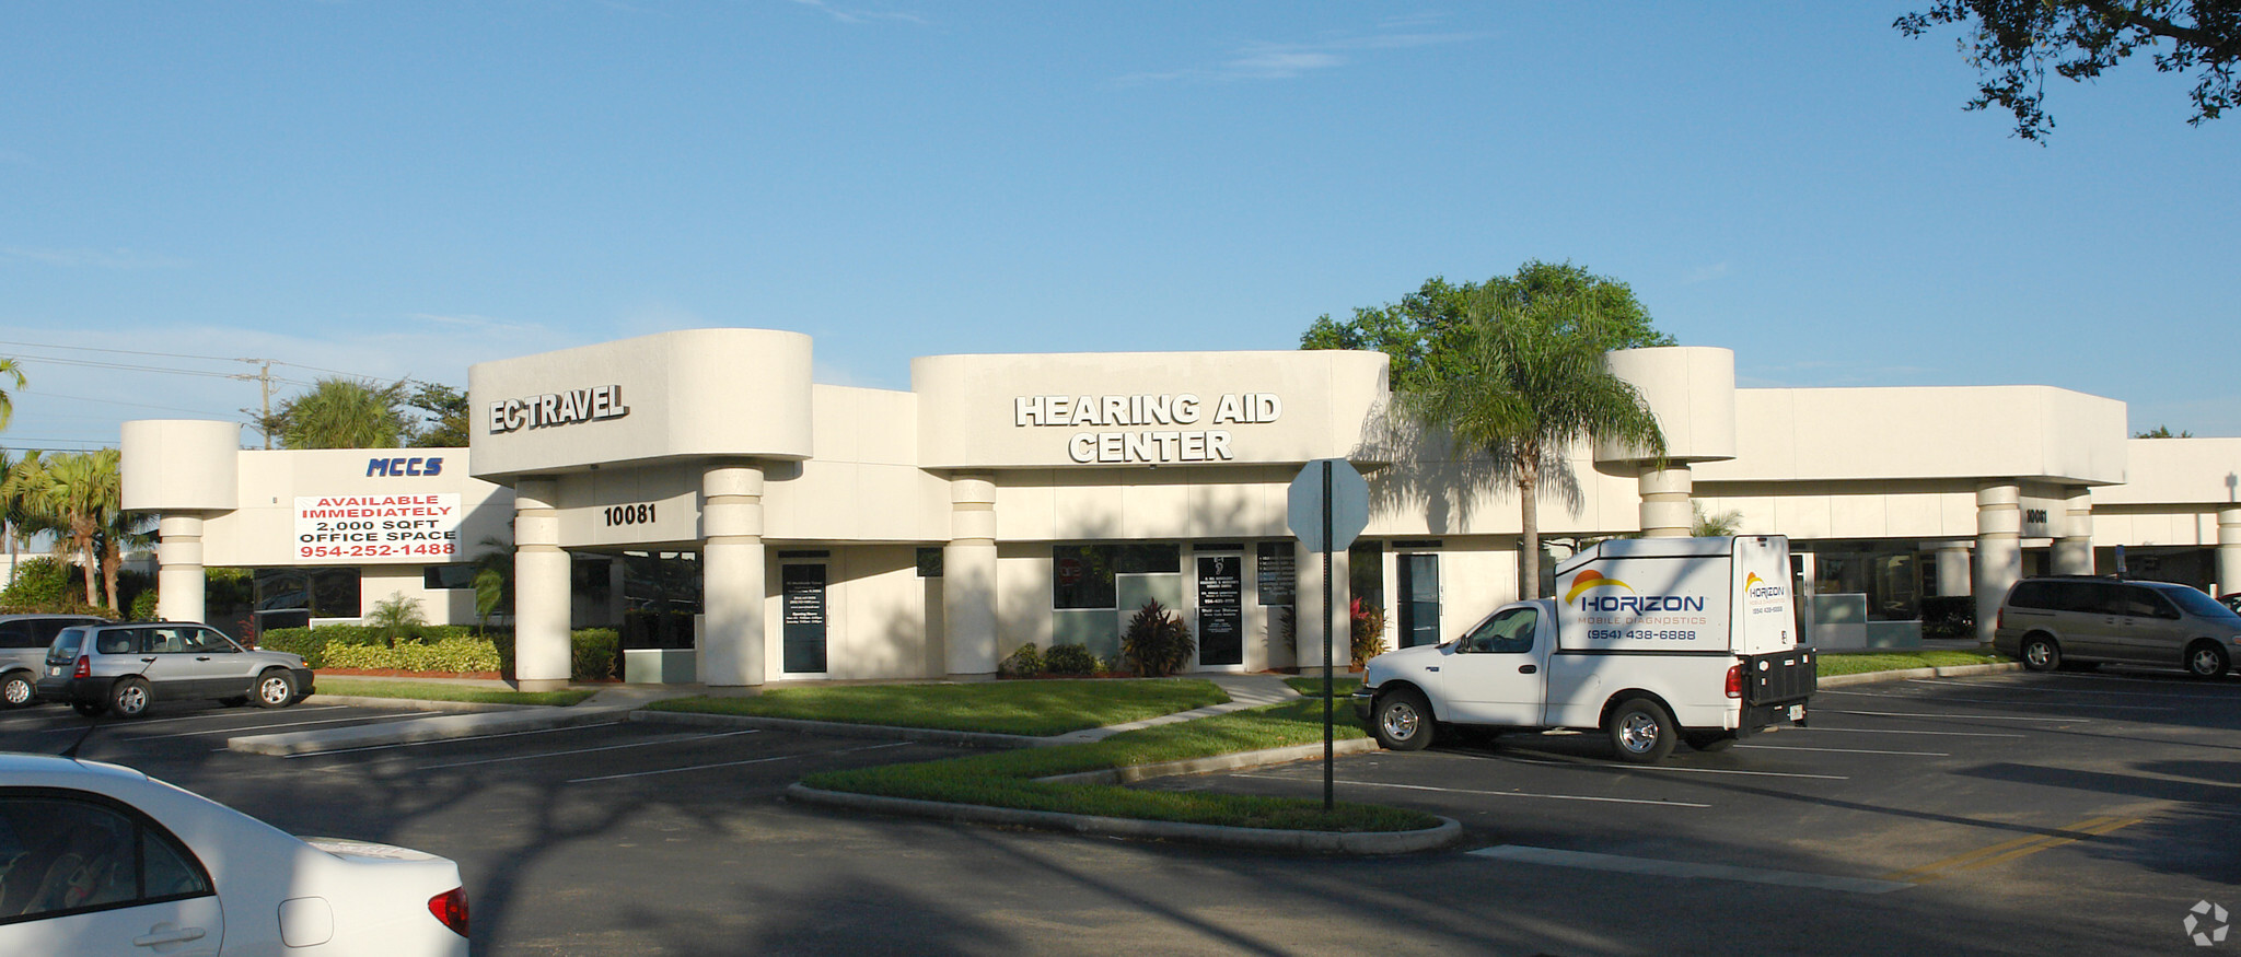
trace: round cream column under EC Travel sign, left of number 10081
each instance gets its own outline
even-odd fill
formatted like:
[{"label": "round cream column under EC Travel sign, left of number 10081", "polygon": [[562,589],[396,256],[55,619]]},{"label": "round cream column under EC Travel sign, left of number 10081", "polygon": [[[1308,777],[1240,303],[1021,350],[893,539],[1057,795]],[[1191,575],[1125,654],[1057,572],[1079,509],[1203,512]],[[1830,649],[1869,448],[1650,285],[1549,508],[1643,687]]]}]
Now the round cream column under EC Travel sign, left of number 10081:
[{"label": "round cream column under EC Travel sign, left of number 10081", "polygon": [[513,681],[522,690],[567,688],[569,583],[560,551],[560,484],[513,482]]}]

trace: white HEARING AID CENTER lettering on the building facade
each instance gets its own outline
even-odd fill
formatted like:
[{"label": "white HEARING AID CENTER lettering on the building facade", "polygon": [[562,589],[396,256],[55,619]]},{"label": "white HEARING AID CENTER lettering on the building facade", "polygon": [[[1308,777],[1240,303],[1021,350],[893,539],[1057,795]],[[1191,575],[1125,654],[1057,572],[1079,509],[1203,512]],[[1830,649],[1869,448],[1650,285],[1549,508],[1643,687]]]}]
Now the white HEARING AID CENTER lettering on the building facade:
[{"label": "white HEARING AID CENTER lettering on the building facade", "polygon": [[[1022,394],[1011,401],[1013,428],[1073,428],[1067,457],[1078,464],[1233,462],[1228,428],[1284,417],[1275,392],[1226,392],[1203,401],[1168,394]],[[1172,428],[1170,428],[1172,426]]]}]

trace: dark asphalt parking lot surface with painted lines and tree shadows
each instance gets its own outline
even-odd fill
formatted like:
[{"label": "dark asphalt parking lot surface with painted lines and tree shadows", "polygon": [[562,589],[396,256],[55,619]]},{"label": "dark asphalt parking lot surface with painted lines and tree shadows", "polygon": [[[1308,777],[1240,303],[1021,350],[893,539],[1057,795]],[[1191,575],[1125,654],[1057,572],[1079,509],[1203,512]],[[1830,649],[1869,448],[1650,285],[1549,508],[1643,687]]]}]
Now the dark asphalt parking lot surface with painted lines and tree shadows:
[{"label": "dark asphalt parking lot surface with painted lines and tree shadows", "polygon": [[[0,749],[179,782],[294,834],[462,863],[484,955],[2216,953],[2241,910],[2241,679],[2104,670],[1829,688],[1811,728],[1663,766],[1501,735],[1336,766],[1340,798],[1457,818],[1459,849],[1250,854],[791,805],[805,773],[957,746],[650,722],[244,755],[226,740],[428,717],[318,699],[87,722]],[[1318,796],[1320,764],[1138,787]],[[2241,946],[2223,944],[2223,946]]]}]

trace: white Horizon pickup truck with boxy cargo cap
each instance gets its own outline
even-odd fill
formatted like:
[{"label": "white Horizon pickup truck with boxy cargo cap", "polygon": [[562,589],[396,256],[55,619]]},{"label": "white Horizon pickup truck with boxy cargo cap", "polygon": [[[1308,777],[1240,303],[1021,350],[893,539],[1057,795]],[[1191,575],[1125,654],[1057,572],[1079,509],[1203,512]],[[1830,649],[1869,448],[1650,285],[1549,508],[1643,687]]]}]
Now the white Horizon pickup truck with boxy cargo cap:
[{"label": "white Horizon pickup truck with boxy cargo cap", "polygon": [[1369,659],[1356,715],[1394,751],[1432,744],[1441,724],[1602,728],[1638,764],[1683,740],[1719,751],[1806,724],[1815,652],[1797,641],[1786,538],[1609,540],[1555,578],[1555,598]]}]

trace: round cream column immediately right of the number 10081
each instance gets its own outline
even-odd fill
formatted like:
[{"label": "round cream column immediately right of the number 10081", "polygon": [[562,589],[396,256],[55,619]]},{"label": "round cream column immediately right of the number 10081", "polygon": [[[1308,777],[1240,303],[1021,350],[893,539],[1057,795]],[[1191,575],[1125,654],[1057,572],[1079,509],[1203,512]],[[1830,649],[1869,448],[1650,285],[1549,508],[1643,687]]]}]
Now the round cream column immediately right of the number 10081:
[{"label": "round cream column immediately right of the number 10081", "polygon": [[762,628],[762,468],[719,464],[701,473],[699,679],[706,686],[760,686],[766,677]]}]

